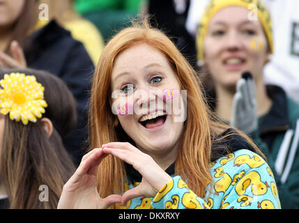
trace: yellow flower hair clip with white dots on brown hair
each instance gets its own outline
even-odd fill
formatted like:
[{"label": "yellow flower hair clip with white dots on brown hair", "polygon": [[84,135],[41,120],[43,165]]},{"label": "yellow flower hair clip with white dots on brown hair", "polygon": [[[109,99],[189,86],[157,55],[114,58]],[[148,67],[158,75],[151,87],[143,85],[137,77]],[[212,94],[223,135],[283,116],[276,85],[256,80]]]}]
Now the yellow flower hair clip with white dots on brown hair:
[{"label": "yellow flower hair clip with white dots on brown hair", "polygon": [[24,125],[28,121],[35,123],[45,113],[47,102],[44,100],[44,87],[36,82],[33,75],[10,73],[0,80],[0,112],[9,113],[11,120],[20,121]]}]

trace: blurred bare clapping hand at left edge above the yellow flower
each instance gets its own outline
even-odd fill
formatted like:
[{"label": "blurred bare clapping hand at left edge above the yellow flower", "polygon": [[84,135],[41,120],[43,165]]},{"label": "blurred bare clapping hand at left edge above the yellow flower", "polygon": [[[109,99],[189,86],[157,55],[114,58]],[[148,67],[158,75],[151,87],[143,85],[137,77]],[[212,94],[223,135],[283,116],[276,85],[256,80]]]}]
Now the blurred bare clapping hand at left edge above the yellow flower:
[{"label": "blurred bare clapping hand at left edge above the yellow flower", "polygon": [[0,52],[0,68],[26,68],[24,52],[17,41],[10,44],[10,52],[13,56]]}]

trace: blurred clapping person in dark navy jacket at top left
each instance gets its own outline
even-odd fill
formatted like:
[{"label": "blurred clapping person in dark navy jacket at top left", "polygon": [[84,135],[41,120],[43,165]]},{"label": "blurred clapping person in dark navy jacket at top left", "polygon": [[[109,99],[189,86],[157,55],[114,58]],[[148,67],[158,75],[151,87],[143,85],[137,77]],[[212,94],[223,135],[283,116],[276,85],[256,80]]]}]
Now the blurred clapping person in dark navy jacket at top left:
[{"label": "blurred clapping person in dark navy jacket at top left", "polygon": [[[79,164],[88,135],[86,107],[95,68],[88,49],[63,24],[52,19],[51,6],[41,1],[1,0],[0,10],[0,68],[47,70],[63,79],[75,97],[77,125],[65,146]],[[95,37],[89,32],[83,35]]]}]

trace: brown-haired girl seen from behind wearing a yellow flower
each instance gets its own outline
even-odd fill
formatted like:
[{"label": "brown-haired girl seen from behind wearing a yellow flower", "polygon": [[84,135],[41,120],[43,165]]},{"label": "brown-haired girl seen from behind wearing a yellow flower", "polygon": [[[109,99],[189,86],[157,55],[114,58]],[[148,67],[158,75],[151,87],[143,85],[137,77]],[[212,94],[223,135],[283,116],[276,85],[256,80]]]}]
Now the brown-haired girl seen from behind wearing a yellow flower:
[{"label": "brown-haired girl seen from behind wearing a yellow flower", "polygon": [[0,208],[56,208],[75,170],[62,140],[76,123],[72,93],[38,70],[0,70],[0,79]]}]

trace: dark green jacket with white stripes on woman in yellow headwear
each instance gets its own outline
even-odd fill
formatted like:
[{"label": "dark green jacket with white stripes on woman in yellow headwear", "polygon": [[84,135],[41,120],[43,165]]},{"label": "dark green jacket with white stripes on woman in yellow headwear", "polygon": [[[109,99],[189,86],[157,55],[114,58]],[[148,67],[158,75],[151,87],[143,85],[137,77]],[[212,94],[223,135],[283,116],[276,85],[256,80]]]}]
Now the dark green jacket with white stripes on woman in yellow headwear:
[{"label": "dark green jacket with white stripes on woman in yellow headwear", "polygon": [[267,93],[273,105],[253,138],[276,176],[282,208],[299,208],[299,105],[278,86],[267,86]]}]

